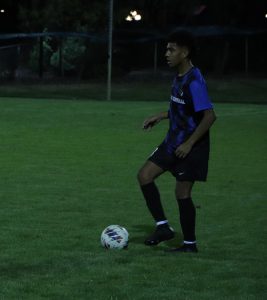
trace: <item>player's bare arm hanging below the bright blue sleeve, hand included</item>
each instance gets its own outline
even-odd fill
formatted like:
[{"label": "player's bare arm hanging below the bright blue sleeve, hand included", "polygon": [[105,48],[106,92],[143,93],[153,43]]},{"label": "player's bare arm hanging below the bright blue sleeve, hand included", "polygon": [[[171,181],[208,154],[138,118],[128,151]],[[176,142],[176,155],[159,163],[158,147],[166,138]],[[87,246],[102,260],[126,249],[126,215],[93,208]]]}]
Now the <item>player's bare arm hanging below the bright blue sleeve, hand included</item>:
[{"label": "player's bare arm hanging below the bright blue sleeve, hand included", "polygon": [[184,158],[191,151],[194,144],[209,130],[216,120],[213,109],[203,110],[203,118],[192,135],[175,151],[176,156]]}]

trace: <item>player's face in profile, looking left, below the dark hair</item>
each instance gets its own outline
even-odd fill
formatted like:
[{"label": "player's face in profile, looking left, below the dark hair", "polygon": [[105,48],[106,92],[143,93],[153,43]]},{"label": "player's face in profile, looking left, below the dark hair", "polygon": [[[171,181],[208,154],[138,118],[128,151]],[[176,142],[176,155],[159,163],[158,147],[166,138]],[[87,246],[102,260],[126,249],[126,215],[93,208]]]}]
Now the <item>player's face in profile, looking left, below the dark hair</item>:
[{"label": "player's face in profile, looking left, below the dark hair", "polygon": [[187,55],[188,50],[186,47],[178,46],[176,43],[168,43],[165,56],[170,67],[178,67],[181,65]]}]

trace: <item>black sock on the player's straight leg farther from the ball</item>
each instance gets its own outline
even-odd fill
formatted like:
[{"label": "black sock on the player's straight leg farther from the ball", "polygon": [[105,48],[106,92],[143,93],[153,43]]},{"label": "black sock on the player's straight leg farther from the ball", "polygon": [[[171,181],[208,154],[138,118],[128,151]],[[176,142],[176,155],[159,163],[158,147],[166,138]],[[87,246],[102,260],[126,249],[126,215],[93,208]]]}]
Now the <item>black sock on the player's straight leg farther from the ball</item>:
[{"label": "black sock on the player's straight leg farther from the ball", "polygon": [[195,242],[196,208],[192,198],[178,199],[177,202],[184,241]]}]

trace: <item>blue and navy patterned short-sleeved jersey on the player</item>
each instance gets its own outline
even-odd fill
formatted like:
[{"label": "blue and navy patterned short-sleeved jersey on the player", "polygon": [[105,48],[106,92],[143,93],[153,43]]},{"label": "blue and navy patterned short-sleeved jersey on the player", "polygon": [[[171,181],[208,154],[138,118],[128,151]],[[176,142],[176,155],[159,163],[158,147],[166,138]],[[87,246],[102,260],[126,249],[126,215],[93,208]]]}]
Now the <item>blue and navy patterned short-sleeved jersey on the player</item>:
[{"label": "blue and navy patterned short-sleeved jersey on the player", "polygon": [[[173,153],[195,131],[203,110],[212,108],[206,82],[198,68],[193,67],[185,75],[174,78],[168,111],[170,126],[164,140],[169,153]],[[203,139],[209,139],[208,132]]]}]

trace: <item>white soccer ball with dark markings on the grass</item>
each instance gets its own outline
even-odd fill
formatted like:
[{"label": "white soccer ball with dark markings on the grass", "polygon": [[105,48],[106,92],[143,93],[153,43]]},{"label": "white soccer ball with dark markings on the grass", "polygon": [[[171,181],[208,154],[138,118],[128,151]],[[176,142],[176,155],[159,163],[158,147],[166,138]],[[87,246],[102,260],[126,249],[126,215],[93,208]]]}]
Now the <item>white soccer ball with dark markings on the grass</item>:
[{"label": "white soccer ball with dark markings on the grass", "polygon": [[110,225],[101,234],[101,245],[106,249],[125,249],[128,242],[129,233],[120,225]]}]

